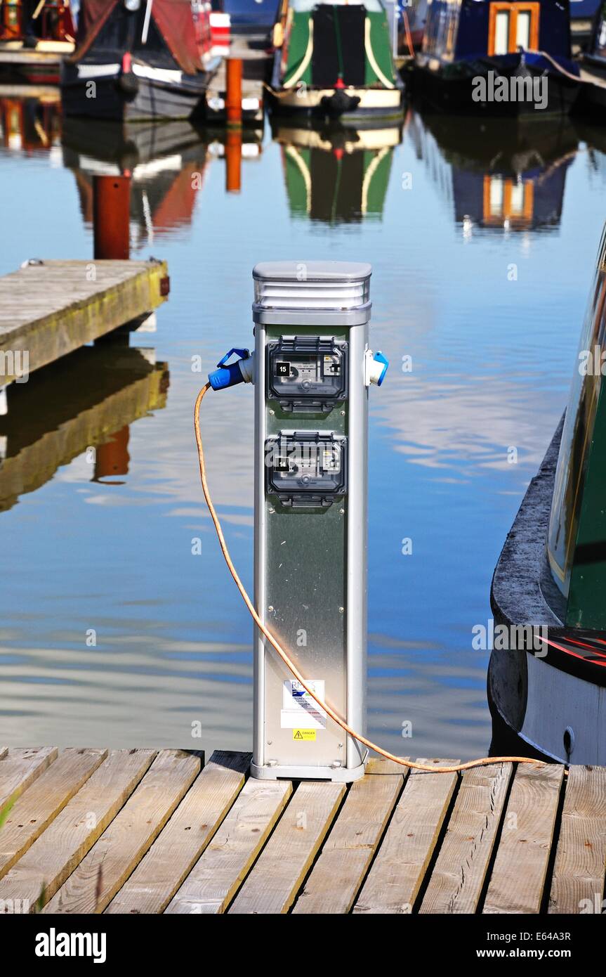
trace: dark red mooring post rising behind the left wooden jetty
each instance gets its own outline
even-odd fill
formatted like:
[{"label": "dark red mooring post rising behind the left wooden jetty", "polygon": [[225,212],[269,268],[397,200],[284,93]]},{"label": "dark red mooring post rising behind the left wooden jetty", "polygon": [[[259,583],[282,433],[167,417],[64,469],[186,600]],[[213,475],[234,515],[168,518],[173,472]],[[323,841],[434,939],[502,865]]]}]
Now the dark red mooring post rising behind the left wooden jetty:
[{"label": "dark red mooring post rising behind the left wooden jetty", "polygon": [[131,177],[93,177],[95,257],[114,260],[131,256]]}]

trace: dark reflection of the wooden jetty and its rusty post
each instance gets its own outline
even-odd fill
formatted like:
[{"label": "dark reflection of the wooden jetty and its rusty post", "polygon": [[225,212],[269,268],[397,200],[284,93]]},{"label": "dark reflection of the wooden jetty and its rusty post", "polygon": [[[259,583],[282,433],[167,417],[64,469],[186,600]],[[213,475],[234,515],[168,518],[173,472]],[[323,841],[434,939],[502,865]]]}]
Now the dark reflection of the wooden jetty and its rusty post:
[{"label": "dark reflection of the wooden jetty and its rusty post", "polygon": [[12,384],[0,416],[0,512],[85,452],[91,481],[122,484],[130,425],[165,407],[168,387],[168,364],[153,349],[109,339]]}]

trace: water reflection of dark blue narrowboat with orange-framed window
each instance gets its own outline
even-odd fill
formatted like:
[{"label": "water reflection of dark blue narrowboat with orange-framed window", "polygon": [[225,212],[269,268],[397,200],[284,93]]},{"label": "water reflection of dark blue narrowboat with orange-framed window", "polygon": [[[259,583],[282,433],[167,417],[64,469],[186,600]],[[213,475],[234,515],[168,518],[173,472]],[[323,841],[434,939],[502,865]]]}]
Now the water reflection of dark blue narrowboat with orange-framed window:
[{"label": "water reflection of dark blue narrowboat with orange-framed window", "polygon": [[[465,235],[559,227],[566,173],[579,138],[568,120],[449,119],[414,114],[407,129]],[[439,158],[436,158],[439,157]]]}]

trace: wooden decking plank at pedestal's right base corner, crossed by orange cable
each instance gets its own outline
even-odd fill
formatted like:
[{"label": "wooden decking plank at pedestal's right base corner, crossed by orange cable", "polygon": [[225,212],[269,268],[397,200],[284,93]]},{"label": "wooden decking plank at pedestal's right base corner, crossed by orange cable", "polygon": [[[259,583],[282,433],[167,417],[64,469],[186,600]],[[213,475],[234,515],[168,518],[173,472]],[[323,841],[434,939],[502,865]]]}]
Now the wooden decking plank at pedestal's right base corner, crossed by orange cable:
[{"label": "wooden decking plank at pedestal's right base corner, crossed by orange cable", "polygon": [[349,912],[404,784],[400,770],[351,785],[293,913]]}]

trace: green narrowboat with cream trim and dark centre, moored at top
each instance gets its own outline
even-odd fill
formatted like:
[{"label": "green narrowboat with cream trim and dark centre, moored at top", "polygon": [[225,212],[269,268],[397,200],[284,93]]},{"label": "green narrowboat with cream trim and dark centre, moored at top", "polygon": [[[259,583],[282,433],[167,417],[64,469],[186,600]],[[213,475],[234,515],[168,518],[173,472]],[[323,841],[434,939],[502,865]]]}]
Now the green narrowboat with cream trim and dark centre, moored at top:
[{"label": "green narrowboat with cream trim and dark centre, moored at top", "polygon": [[355,128],[401,116],[403,84],[380,0],[285,2],[273,40],[272,114]]}]

